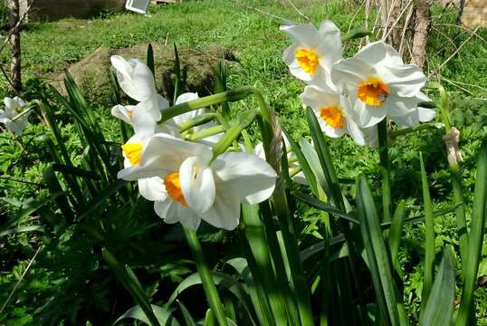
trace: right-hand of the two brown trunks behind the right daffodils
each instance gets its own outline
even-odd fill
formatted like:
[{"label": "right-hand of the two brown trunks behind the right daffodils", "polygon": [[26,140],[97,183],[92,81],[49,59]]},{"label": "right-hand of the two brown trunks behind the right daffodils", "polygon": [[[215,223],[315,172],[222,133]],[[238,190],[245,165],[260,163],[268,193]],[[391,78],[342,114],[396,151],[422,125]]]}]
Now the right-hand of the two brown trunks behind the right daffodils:
[{"label": "right-hand of the two brown trunks behind the right daffodils", "polygon": [[415,36],[411,63],[423,69],[425,66],[426,43],[431,26],[431,14],[427,0],[414,0],[415,3]]}]

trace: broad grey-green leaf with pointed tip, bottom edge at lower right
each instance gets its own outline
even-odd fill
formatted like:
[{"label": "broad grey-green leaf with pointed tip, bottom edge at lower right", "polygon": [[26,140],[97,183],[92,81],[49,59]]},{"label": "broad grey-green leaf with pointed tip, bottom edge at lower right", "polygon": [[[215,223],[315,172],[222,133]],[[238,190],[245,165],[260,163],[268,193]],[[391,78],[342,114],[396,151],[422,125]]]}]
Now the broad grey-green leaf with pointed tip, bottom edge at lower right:
[{"label": "broad grey-green leaf with pointed tip, bottom edge at lower right", "polygon": [[454,276],[454,253],[452,248],[447,246],[433,288],[427,298],[425,310],[421,313],[419,320],[421,326],[451,324],[454,311]]}]

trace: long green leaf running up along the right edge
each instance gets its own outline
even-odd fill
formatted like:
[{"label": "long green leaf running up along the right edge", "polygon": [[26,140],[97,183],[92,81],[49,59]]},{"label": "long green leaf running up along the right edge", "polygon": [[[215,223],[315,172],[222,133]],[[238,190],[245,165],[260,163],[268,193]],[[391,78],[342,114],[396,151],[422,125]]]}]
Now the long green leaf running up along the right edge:
[{"label": "long green leaf running up along the right edge", "polygon": [[462,303],[456,319],[459,326],[467,325],[473,321],[474,316],[470,315],[473,309],[473,292],[479,271],[479,261],[482,255],[483,236],[485,233],[485,213],[487,184],[487,139],[483,140],[477,163],[477,174],[475,176],[475,190],[473,192],[472,222],[470,234],[468,235],[468,247],[466,262],[463,264],[463,290]]}]

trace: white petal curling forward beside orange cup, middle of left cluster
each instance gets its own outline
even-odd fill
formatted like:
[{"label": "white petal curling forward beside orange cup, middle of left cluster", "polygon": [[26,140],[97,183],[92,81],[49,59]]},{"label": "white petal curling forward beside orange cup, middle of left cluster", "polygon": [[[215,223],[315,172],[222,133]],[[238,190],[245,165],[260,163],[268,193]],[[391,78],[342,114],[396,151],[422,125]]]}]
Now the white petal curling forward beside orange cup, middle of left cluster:
[{"label": "white petal curling forward beside orange cup, middle of left cluster", "polygon": [[186,158],[179,168],[179,182],[187,206],[205,212],[215,201],[215,180],[211,168],[197,157]]}]

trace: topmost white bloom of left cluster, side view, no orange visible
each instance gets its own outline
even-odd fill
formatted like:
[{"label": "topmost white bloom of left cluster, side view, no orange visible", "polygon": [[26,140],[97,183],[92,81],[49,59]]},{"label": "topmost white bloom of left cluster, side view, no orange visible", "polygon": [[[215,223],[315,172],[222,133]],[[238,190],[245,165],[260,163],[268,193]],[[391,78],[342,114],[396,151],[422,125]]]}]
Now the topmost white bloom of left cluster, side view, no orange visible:
[{"label": "topmost white bloom of left cluster, side view, no orange visible", "polygon": [[160,108],[167,101],[156,91],[154,76],[148,66],[138,59],[125,60],[119,55],[112,55],[110,62],[117,72],[122,91],[133,100],[141,102],[138,105],[143,105],[152,119],[160,120]]}]

